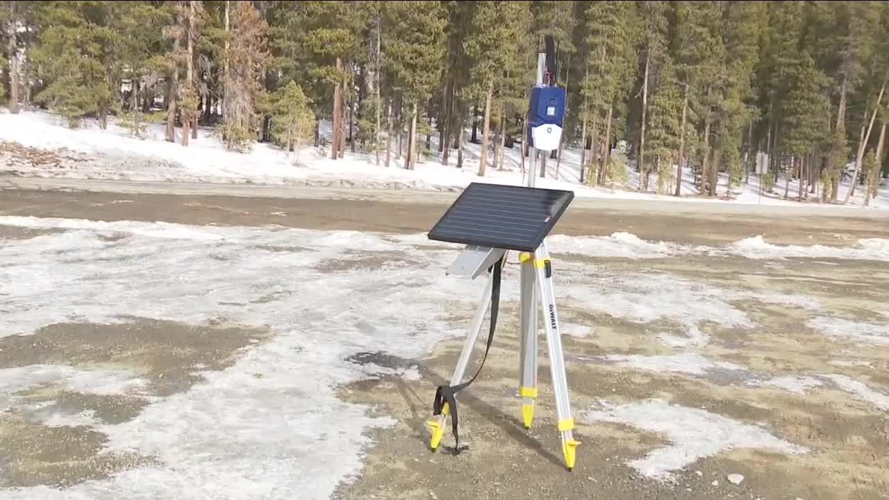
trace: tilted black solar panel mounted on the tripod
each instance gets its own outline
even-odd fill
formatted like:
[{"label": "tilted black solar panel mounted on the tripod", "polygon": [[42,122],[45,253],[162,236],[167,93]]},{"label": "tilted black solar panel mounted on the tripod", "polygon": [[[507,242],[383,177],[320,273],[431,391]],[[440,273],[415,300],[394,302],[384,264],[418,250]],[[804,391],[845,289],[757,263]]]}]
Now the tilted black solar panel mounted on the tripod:
[{"label": "tilted black solar panel mounted on the tripod", "polygon": [[436,222],[428,238],[533,252],[573,198],[573,191],[473,182]]}]

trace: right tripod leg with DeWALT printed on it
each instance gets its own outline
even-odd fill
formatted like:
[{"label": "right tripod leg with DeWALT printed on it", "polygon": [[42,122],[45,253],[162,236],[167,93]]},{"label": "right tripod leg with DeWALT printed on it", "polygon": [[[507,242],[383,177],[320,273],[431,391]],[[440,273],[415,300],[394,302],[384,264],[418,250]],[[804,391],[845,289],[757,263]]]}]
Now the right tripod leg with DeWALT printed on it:
[{"label": "right tripod leg with DeWALT printed on it", "polygon": [[[543,325],[547,333],[549,348],[549,370],[552,375],[553,391],[556,393],[557,428],[562,435],[562,454],[565,466],[571,471],[574,468],[575,451],[581,443],[574,440],[574,419],[571,414],[571,401],[568,399],[568,380],[565,377],[565,358],[562,353],[562,337],[558,329],[558,313],[556,310],[556,292],[553,287],[552,266],[549,262],[547,244],[543,244],[534,253],[534,268],[537,270],[537,285],[543,306]],[[549,276],[548,276],[549,274]]]}]

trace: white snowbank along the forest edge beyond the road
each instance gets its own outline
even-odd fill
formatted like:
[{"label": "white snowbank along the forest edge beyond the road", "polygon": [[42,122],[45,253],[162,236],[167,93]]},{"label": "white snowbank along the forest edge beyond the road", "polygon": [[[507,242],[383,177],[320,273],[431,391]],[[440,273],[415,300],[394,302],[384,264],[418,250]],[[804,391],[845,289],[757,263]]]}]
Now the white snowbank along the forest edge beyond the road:
[{"label": "white snowbank along the forest edge beyond the road", "polygon": [[[177,133],[181,133],[177,129]],[[462,169],[455,168],[456,152],[453,151],[451,165],[440,163],[437,153],[437,137],[432,137],[431,156],[422,159],[416,170],[404,170],[404,158],[393,157],[391,166],[374,165],[373,155],[347,152],[345,157],[332,160],[326,155],[327,148],[303,148],[299,166],[292,165],[286,153],[274,146],[254,144],[249,153],[229,152],[211,130],[201,129],[196,140],[191,140],[188,148],[178,143],[164,141],[163,125],[148,125],[144,140],[132,137],[128,131],[109,119],[108,130],[100,130],[94,120],[84,120],[82,128],[69,129],[64,120],[44,112],[22,112],[11,115],[0,110],[0,141],[9,141],[36,149],[66,149],[70,153],[67,161],[60,165],[17,161],[12,152],[0,151],[0,172],[7,171],[22,175],[44,177],[66,177],[77,179],[117,179],[130,181],[204,181],[204,182],[252,182],[264,184],[320,184],[345,185],[370,188],[416,188],[427,190],[459,190],[469,182],[496,182],[503,184],[524,184],[525,173],[519,147],[506,149],[503,170],[489,166],[485,177],[477,175],[480,146],[468,143]],[[492,155],[493,157],[493,155]],[[383,160],[381,160],[383,161]],[[638,174],[629,169],[629,187],[632,189],[589,187],[579,183],[580,151],[566,149],[560,165],[549,159],[547,177],[538,179],[542,188],[573,190],[578,197],[622,198],[622,199],[682,199],[690,202],[725,202],[727,191],[725,175],[719,181],[718,199],[700,198],[693,186],[691,173],[686,171],[683,178],[683,198],[658,195],[653,192],[639,192]],[[794,205],[792,199],[781,199],[784,187],[779,180],[774,193],[761,196],[759,180],[751,176],[747,185],[733,189],[732,203],[761,205]],[[652,190],[657,185],[652,175]],[[790,183],[793,195],[797,184]],[[841,187],[840,198],[845,195],[847,185]],[[871,203],[874,207],[889,207],[889,194],[883,190],[880,197]],[[794,196],[791,196],[794,198]],[[852,200],[852,205],[861,204],[861,196]]]}]

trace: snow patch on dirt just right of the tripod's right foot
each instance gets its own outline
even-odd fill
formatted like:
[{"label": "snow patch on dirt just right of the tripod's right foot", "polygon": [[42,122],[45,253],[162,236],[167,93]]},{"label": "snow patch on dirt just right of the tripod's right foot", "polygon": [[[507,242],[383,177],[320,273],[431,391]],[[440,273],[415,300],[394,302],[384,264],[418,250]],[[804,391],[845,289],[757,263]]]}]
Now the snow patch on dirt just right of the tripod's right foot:
[{"label": "snow patch on dirt just right of the tripod's right foot", "polygon": [[629,466],[653,480],[674,480],[673,472],[686,465],[735,448],[765,449],[789,455],[809,451],[776,438],[756,425],[697,408],[670,405],[662,399],[624,405],[600,401],[598,407],[581,415],[588,423],[625,423],[669,440],[669,446],[654,449],[645,458],[629,462]]}]

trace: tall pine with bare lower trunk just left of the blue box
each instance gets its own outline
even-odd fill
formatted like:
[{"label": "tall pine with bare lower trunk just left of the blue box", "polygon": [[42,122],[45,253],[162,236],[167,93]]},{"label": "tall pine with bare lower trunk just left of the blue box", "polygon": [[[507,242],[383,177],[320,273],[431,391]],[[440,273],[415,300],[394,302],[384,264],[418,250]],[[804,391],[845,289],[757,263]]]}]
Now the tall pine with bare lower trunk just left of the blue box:
[{"label": "tall pine with bare lower trunk just left of the blue box", "polygon": [[466,93],[471,98],[485,102],[482,121],[482,154],[478,162],[478,175],[485,175],[488,159],[488,135],[495,85],[504,74],[517,74],[515,65],[523,60],[522,46],[516,44],[531,31],[531,8],[528,2],[480,2],[474,5],[469,34],[463,41],[463,49],[470,60],[471,85]]}]

